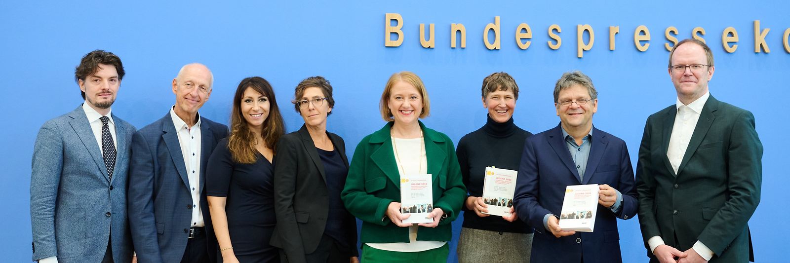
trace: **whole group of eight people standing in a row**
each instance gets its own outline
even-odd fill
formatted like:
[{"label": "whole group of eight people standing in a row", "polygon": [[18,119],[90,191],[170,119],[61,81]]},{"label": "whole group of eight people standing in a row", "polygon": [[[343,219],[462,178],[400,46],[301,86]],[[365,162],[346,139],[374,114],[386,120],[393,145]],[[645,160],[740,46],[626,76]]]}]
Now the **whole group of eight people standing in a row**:
[{"label": "whole group of eight people standing in a row", "polygon": [[[85,103],[36,139],[32,259],[445,262],[450,223],[464,211],[461,262],[620,262],[616,220],[637,213],[651,261],[748,261],[762,144],[749,111],[709,95],[713,71],[705,43],[672,49],[678,100],[648,118],[634,177],[625,142],[592,126],[596,88],[578,71],[556,82],[559,125],[534,135],[513,122],[513,77],[486,77],[487,123],[457,148],[419,121],[431,111],[423,81],[394,73],[379,101],[386,124],[349,164],[343,138],[326,130],[335,100],[323,77],[296,86],[304,124],[288,134],[269,82],[245,78],[228,129],[199,115],[213,75],[188,64],[171,83],[175,105],[136,130],[111,113],[120,59],[92,51],[75,70]],[[486,167],[518,171],[512,201],[482,197]],[[426,174],[432,204],[401,207],[401,178]],[[580,184],[599,185],[594,232],[558,224],[565,187]],[[488,215],[488,205],[510,216]],[[405,224],[416,212],[430,223]]]}]

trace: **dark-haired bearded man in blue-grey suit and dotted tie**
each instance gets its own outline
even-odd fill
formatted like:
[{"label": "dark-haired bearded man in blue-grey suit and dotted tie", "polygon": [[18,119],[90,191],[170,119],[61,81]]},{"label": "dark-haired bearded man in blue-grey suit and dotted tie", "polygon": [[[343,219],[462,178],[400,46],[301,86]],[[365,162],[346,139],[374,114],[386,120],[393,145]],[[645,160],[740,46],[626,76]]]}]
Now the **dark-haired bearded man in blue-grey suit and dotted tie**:
[{"label": "dark-haired bearded man in blue-grey suit and dotted tie", "polygon": [[85,103],[43,124],[33,149],[33,261],[128,262],[126,175],[134,126],[111,114],[124,75],[106,51],[74,72]]}]

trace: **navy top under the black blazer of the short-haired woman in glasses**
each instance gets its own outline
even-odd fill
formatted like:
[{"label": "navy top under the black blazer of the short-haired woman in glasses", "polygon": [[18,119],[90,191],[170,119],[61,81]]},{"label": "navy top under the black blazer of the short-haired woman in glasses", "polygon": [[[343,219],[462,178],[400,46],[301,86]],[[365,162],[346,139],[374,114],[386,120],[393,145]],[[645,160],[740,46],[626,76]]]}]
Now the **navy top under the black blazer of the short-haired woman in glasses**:
[{"label": "navy top under the black blazer of the short-haired woman in glasses", "polygon": [[318,156],[321,156],[321,163],[324,164],[326,189],[329,191],[329,216],[326,219],[324,233],[341,244],[345,244],[348,241],[346,240],[343,226],[347,220],[346,215],[348,212],[343,205],[343,201],[340,200],[340,192],[343,191],[345,186],[348,168],[343,158],[336,151],[325,151],[321,148],[315,149],[318,150]]}]

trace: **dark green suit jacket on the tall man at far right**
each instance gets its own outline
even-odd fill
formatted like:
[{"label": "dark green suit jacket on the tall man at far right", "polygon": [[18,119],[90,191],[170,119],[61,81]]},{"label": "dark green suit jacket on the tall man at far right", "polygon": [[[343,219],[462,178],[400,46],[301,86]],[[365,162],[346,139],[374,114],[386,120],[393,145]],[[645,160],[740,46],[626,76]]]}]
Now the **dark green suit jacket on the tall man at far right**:
[{"label": "dark green suit jacket on the tall man at far right", "polygon": [[[762,183],[754,115],[710,96],[675,174],[667,150],[676,111],[672,105],[650,115],[639,148],[636,182],[645,247],[656,235],[681,251],[699,240],[713,250],[711,262],[746,262],[753,253],[747,222]],[[656,261],[651,251],[648,256]]]}]

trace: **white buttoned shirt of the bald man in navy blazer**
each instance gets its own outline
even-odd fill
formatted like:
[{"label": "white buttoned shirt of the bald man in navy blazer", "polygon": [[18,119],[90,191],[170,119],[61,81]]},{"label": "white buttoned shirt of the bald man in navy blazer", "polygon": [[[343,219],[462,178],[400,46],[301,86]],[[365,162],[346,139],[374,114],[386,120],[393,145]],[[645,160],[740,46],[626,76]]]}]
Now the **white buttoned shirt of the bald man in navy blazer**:
[{"label": "white buttoned shirt of the bald man in navy blazer", "polygon": [[179,115],[175,115],[173,107],[170,108],[170,117],[173,118],[175,132],[179,135],[186,177],[190,181],[190,193],[192,194],[192,224],[190,227],[204,227],[203,212],[200,209],[200,115],[198,114],[198,122],[195,122],[195,125],[191,127],[187,126]]}]

